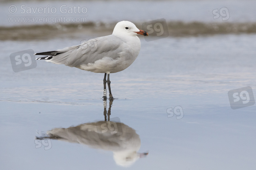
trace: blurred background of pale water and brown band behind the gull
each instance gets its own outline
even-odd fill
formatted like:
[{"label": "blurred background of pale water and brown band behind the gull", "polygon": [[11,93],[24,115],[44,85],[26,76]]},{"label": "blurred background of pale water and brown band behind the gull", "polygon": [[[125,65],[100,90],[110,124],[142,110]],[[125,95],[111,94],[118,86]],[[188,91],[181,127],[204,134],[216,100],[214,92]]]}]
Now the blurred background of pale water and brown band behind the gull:
[{"label": "blurred background of pale water and brown band behind the gull", "polygon": [[171,37],[256,33],[256,3],[251,0],[14,2],[0,6],[0,40],[95,38],[112,34],[122,20],[143,29],[143,23],[157,19],[165,19]]}]

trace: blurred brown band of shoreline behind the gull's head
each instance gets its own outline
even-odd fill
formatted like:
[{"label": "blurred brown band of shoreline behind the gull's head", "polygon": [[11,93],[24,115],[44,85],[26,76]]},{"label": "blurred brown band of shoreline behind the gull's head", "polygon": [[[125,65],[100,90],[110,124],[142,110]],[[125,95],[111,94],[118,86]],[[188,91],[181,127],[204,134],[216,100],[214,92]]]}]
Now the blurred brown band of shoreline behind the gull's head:
[{"label": "blurred brown band of shoreline behind the gull's head", "polygon": [[[85,22],[85,23],[56,23],[35,24],[23,26],[0,27],[0,40],[34,40],[52,39],[56,37],[81,37],[81,34],[90,36],[104,36],[112,34],[116,22]],[[142,29],[141,22],[136,23]],[[167,22],[169,36],[199,36],[215,34],[250,34],[256,33],[256,22],[244,23],[205,23],[205,22]]]}]

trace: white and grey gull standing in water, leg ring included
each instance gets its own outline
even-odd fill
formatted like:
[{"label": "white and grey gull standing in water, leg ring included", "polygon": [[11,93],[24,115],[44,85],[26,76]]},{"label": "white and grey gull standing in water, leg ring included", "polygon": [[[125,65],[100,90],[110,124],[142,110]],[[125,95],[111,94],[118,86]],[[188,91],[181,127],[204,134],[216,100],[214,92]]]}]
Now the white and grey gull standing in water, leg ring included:
[{"label": "white and grey gull standing in water, leg ring included", "polygon": [[[81,45],[35,53],[34,55],[47,55],[36,60],[64,64],[95,73],[105,73],[103,100],[107,99],[106,83],[108,83],[109,100],[113,101],[109,75],[123,71],[137,58],[141,48],[138,34],[148,36],[146,31],[139,30],[132,22],[120,21],[116,24],[111,35],[90,39]],[[106,80],[107,74],[108,80]]]}]

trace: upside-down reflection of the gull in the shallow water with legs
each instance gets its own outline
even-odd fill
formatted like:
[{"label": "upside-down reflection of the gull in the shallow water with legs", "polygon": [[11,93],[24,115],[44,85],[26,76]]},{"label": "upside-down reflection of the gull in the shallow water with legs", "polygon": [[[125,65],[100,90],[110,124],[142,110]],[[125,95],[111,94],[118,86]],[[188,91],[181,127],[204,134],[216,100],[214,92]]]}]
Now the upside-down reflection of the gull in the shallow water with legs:
[{"label": "upside-down reflection of the gull in the shallow water with legs", "polygon": [[108,112],[106,111],[106,101],[103,103],[105,121],[83,123],[69,128],[56,128],[47,131],[46,135],[36,138],[57,139],[112,151],[117,165],[129,167],[139,158],[145,157],[148,152],[138,153],[141,140],[134,129],[121,123],[117,117],[110,119],[112,103],[110,101]]}]

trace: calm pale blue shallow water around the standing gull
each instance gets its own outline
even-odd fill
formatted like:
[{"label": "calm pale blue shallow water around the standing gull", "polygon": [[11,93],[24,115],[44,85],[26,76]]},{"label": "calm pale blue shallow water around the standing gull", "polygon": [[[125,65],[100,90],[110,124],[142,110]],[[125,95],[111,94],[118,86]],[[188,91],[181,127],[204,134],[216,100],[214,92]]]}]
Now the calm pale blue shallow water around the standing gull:
[{"label": "calm pale blue shallow water around the standing gull", "polygon": [[[148,152],[126,169],[255,169],[255,105],[233,110],[228,99],[229,90],[256,88],[255,38],[241,34],[147,42],[141,37],[134,63],[110,74],[117,98],[110,118],[134,129],[141,143],[138,138],[128,138],[127,143],[141,144],[138,153]],[[15,73],[9,55],[80,41],[0,41],[2,169],[124,169],[113,157],[120,147],[104,150],[82,141],[35,141],[35,136],[54,128],[104,120],[104,113],[110,114],[110,101],[105,111],[102,101],[104,74],[44,61]],[[167,114],[171,107],[177,111],[173,117]],[[127,140],[117,144],[126,146]]]}]

